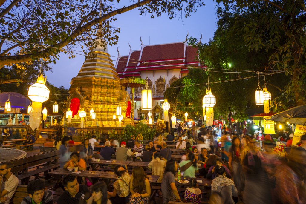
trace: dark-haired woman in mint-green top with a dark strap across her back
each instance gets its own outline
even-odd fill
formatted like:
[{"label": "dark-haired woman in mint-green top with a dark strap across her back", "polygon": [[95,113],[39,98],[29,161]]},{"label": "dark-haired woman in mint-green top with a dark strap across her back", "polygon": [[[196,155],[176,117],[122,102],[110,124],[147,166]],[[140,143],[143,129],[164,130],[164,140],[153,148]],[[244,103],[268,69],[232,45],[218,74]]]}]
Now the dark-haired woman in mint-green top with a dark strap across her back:
[{"label": "dark-haired woman in mint-green top with a dark strap across her back", "polygon": [[181,161],[181,163],[178,164],[181,174],[183,174],[184,177],[196,178],[196,173],[199,173],[199,167],[196,164],[195,155],[189,152],[187,158],[188,160]]}]

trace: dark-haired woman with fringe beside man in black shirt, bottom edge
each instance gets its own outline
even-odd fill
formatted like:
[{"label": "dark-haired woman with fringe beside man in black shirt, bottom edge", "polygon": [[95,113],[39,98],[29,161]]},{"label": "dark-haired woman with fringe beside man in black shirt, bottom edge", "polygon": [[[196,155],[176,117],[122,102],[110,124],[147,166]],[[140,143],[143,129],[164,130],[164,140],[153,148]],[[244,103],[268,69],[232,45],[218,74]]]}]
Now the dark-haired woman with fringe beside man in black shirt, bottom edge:
[{"label": "dark-haired woman with fringe beside man in black shirt, bottom edge", "polygon": [[107,199],[107,186],[104,181],[95,183],[92,187],[92,195],[87,200],[87,204],[112,204]]}]

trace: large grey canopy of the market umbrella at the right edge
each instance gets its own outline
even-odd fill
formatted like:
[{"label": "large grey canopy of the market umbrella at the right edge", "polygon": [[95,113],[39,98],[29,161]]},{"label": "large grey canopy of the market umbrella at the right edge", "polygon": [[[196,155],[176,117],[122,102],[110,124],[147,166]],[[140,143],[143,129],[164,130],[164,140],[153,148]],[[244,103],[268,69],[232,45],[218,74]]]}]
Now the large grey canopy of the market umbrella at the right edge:
[{"label": "large grey canopy of the market umbrella at the right edge", "polygon": [[290,108],[265,119],[269,121],[289,122],[292,124],[305,125],[306,105]]}]

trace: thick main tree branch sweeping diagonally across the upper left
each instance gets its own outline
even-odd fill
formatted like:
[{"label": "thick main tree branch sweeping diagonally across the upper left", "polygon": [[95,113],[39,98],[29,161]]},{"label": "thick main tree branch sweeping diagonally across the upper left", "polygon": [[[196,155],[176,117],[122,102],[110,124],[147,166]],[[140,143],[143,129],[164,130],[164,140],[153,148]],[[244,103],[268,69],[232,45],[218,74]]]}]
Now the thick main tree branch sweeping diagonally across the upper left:
[{"label": "thick main tree branch sweeping diagonally across the upper left", "polygon": [[[41,57],[41,55],[42,55],[41,52],[43,52],[43,57],[50,56],[50,55],[52,55],[54,53],[54,51],[53,51],[54,49],[63,48],[64,46],[68,45],[78,35],[81,35],[83,32],[87,31],[92,26],[94,26],[96,24],[99,24],[100,22],[102,22],[104,20],[107,20],[107,19],[109,19],[109,18],[111,18],[111,17],[113,17],[113,16],[115,16],[117,14],[125,13],[125,12],[130,11],[132,9],[135,9],[137,7],[140,7],[140,6],[143,6],[145,4],[148,4],[151,1],[154,1],[154,0],[144,0],[142,2],[132,4],[132,5],[128,6],[128,7],[124,6],[121,9],[116,9],[114,11],[111,11],[110,13],[107,13],[107,14],[99,17],[99,18],[91,20],[88,23],[86,23],[85,25],[83,25],[82,27],[76,28],[76,30],[73,33],[71,33],[62,42],[59,42],[58,44],[56,44],[56,45],[54,45],[52,47],[46,48],[43,51],[37,52],[34,55],[32,55],[32,54],[23,54],[23,55],[13,55],[13,56],[1,56],[0,57],[0,67],[3,66],[3,65],[6,65],[6,64],[12,64],[12,63],[14,64],[14,63],[19,63],[19,62],[31,61],[32,58]],[[157,1],[157,0],[155,0],[155,1]]]}]

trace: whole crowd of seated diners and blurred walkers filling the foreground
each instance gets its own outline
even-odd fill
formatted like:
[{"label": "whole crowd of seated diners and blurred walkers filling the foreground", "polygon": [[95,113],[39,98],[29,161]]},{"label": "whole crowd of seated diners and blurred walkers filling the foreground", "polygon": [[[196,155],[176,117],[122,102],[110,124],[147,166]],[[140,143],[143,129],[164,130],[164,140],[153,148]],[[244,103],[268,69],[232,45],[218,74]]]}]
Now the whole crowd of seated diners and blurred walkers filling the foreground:
[{"label": "whole crowd of seated diners and blurred walkers filling the foreground", "polygon": [[[273,143],[263,143],[263,148],[256,147],[256,135],[236,134],[224,128],[223,131],[214,127],[178,128],[177,138],[164,131],[157,133],[155,138],[143,144],[143,137],[118,141],[106,139],[100,159],[111,160],[115,155],[117,161],[127,161],[135,155],[140,161],[149,162],[148,169],[152,175],[158,175],[157,185],[161,186],[158,196],[163,203],[169,201],[201,203],[202,191],[197,178],[211,180],[211,196],[208,203],[306,203],[306,135],[301,136],[299,146],[293,147],[288,157],[281,158],[272,151]],[[221,157],[218,153],[217,135],[221,136]],[[184,150],[181,162],[171,159],[172,151],[165,141],[177,139],[175,148]],[[78,167],[79,170],[89,169],[87,160],[93,158],[95,146],[100,144],[94,135],[84,139],[80,153],[69,152],[74,145],[73,139],[67,136],[56,141],[61,153],[60,167]],[[131,150],[130,148],[133,148]],[[95,156],[97,157],[97,156]],[[199,168],[201,167],[201,168]],[[149,203],[151,185],[147,174],[140,166],[132,169],[129,174],[125,165],[116,165],[114,173],[118,179],[111,189],[106,183],[92,181],[87,178],[65,176],[62,185],[65,191],[58,198],[58,204],[74,203]],[[13,163],[0,164],[0,202],[9,203],[18,185],[18,178],[12,174]],[[189,187],[184,195],[180,195],[175,185],[178,172],[183,178],[189,178]],[[52,192],[45,191],[43,180],[33,180],[27,186],[28,196],[22,200],[26,203],[52,203]]]}]

